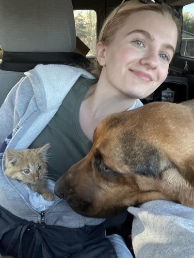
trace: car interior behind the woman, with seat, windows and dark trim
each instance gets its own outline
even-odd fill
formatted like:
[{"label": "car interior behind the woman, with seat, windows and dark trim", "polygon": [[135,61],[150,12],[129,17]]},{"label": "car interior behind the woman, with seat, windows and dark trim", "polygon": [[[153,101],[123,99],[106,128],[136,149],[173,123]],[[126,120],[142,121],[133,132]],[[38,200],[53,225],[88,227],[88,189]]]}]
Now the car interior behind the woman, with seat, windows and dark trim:
[{"label": "car interior behind the woman, with seat, windows and dark trim", "polygon": [[[78,65],[89,71],[103,21],[120,2],[0,0],[0,106],[24,72],[39,63]],[[180,14],[180,40],[166,80],[142,100],[144,104],[194,98],[194,0],[165,3]],[[127,212],[107,220],[107,234],[121,234],[131,248],[131,221]]]}]

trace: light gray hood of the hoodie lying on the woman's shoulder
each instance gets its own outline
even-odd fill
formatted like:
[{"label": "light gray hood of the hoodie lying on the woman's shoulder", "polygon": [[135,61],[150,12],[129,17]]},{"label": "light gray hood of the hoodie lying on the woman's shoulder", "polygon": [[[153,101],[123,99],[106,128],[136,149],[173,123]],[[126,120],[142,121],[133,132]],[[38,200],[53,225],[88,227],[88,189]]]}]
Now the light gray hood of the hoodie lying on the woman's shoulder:
[{"label": "light gray hood of the hoodie lying on the woman's shoulder", "polygon": [[81,68],[61,64],[38,64],[25,75],[32,83],[35,101],[41,112],[58,107],[80,76],[94,78]]}]

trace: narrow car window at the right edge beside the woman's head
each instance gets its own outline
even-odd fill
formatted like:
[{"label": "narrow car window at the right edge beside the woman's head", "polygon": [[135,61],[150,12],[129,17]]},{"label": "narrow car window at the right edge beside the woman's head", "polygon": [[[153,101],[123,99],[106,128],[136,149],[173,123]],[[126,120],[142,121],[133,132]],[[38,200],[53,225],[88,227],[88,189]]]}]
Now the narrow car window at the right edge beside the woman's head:
[{"label": "narrow car window at the right edge beside the woman's head", "polygon": [[183,7],[182,41],[180,55],[194,58],[194,3]]}]

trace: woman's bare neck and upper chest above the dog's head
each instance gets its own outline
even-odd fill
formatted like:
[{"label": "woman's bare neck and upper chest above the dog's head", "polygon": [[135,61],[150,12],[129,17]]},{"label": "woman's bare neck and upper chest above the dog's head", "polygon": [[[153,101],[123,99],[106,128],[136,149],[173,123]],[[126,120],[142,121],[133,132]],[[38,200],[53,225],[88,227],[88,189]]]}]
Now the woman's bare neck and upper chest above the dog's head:
[{"label": "woman's bare neck and upper chest above the dog's head", "polygon": [[80,124],[84,134],[92,141],[94,130],[108,115],[127,110],[135,99],[108,87],[100,80],[93,84],[80,107]]}]

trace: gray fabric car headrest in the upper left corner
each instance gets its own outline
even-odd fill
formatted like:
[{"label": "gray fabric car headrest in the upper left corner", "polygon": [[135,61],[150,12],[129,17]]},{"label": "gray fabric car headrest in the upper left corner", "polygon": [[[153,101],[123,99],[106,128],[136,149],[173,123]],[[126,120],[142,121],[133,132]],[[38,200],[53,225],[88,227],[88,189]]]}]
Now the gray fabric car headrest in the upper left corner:
[{"label": "gray fabric car headrest in the upper left corner", "polygon": [[0,0],[0,47],[7,52],[74,52],[71,0]]}]

